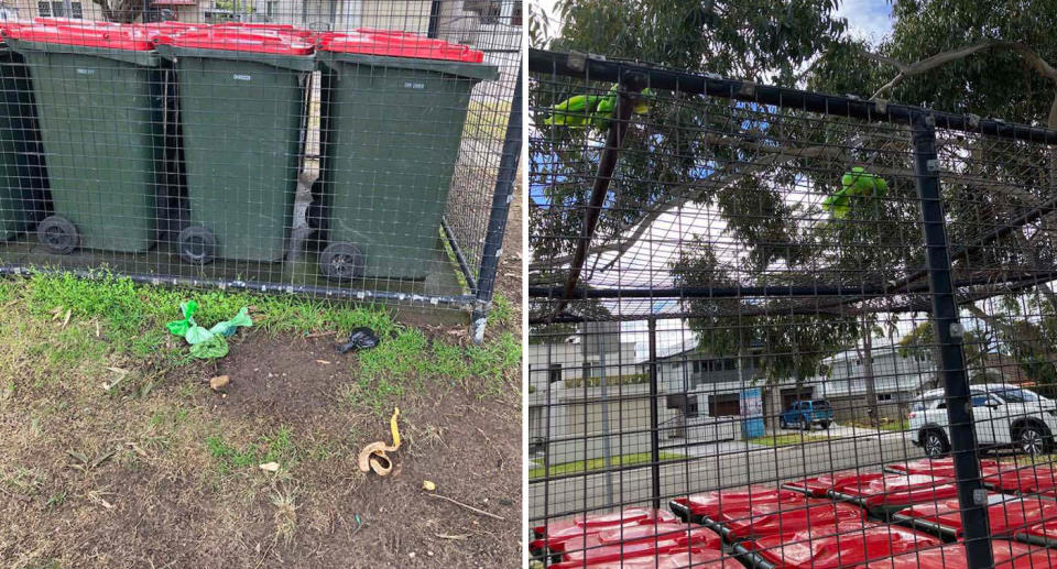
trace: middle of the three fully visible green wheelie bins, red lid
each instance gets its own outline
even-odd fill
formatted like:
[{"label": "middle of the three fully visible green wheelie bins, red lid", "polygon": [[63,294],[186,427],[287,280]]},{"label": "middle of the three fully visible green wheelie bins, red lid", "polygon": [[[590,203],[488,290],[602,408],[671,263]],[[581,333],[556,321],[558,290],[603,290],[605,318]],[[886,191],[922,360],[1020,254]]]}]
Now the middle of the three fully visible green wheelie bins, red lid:
[{"label": "middle of the three fully visible green wheelie bins, red lid", "polygon": [[296,34],[238,26],[157,39],[179,90],[190,218],[177,240],[184,261],[283,260],[313,48]]}]

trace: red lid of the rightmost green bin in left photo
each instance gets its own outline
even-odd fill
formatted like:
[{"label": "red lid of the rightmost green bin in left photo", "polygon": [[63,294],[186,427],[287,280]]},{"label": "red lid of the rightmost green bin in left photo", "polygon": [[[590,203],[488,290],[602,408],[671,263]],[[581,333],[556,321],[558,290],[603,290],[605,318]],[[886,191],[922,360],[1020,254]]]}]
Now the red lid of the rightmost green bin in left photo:
[{"label": "red lid of the rightmost green bin in left photo", "polygon": [[481,63],[484,54],[466,45],[423,37],[411,32],[360,28],[355,32],[327,32],[319,36],[319,48],[335,53],[416,57],[445,62]]}]

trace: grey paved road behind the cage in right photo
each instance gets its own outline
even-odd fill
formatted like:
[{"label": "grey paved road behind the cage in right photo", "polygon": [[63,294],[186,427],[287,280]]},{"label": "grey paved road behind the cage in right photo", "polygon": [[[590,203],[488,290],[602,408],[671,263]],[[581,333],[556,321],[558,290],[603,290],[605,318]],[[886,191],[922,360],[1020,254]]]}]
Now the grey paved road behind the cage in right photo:
[{"label": "grey paved road behind the cage in right photo", "polygon": [[[850,428],[849,428],[850,429]],[[816,433],[820,435],[821,431]],[[831,435],[836,435],[833,433]],[[788,447],[760,448],[744,442],[717,445],[716,450],[661,469],[662,502],[680,494],[771,483],[849,469],[880,469],[882,464],[920,458],[906,433],[852,429],[847,436]],[[649,505],[651,469],[611,474],[612,501],[606,474],[528,484],[528,518],[560,517],[574,512]]]}]

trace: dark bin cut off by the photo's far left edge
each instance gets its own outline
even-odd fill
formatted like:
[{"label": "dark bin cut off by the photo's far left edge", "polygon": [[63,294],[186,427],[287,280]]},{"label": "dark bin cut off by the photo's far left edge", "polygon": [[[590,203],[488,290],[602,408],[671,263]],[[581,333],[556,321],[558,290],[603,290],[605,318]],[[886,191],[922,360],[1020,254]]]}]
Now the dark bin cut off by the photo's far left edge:
[{"label": "dark bin cut off by the photo's far left edge", "polygon": [[25,62],[0,43],[0,240],[29,231],[43,217],[40,131]]}]

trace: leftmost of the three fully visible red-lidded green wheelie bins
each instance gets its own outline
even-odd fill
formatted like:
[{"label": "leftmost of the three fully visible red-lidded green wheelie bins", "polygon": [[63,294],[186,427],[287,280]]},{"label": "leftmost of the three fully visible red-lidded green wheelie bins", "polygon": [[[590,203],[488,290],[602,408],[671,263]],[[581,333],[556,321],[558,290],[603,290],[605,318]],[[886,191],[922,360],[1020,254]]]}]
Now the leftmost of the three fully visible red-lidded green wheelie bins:
[{"label": "leftmost of the three fully visible red-lidded green wheelie bins", "polygon": [[63,254],[150,249],[164,144],[153,45],[131,25],[34,23],[7,34],[33,81],[54,209],[40,241]]}]

